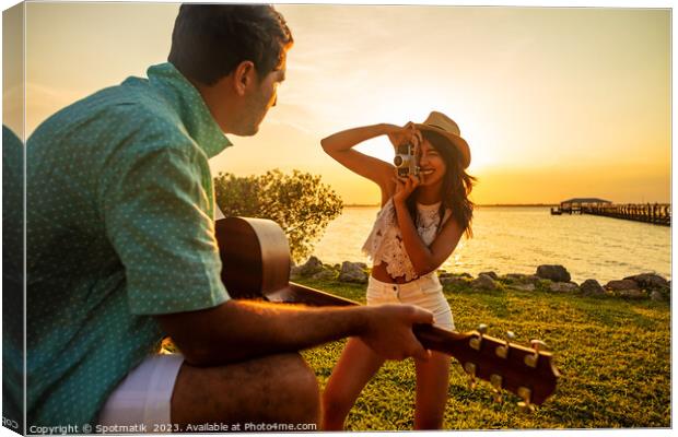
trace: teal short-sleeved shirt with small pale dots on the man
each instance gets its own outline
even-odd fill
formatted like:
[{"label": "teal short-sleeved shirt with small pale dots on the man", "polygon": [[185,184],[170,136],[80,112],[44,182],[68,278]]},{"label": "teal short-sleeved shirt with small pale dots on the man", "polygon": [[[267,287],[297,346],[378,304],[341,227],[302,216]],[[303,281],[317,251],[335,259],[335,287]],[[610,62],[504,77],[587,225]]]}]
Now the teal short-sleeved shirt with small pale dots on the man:
[{"label": "teal short-sleeved shirt with small pale dots on the man", "polygon": [[28,426],[95,423],[157,351],[153,315],[229,299],[208,166],[229,145],[171,63],[74,103],[28,139]]}]

